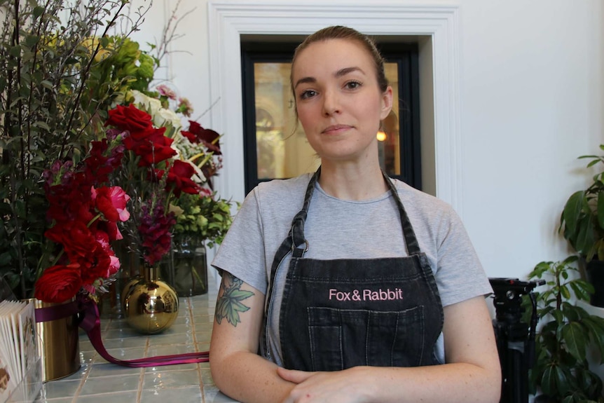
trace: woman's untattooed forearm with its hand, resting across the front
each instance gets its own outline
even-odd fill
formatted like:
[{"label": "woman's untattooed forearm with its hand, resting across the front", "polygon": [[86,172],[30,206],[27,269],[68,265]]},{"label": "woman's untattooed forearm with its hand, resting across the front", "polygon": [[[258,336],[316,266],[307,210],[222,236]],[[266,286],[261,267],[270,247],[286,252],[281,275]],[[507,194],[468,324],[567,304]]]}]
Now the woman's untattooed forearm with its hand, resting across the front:
[{"label": "woman's untattooed forearm with its hand, resting across the front", "polygon": [[354,367],[336,372],[279,370],[294,383],[284,403],[499,402],[497,369],[474,364],[431,367]]}]

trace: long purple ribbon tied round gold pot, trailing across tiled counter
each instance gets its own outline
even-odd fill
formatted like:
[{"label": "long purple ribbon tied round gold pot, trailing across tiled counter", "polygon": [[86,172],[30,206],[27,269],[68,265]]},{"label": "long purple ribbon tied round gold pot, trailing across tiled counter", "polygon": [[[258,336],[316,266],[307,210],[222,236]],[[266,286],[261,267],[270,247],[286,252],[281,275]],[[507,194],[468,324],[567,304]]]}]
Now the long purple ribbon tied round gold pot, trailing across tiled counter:
[{"label": "long purple ribbon tied round gold pot, trailing across tiled counter", "polygon": [[47,322],[49,320],[62,319],[71,315],[78,315],[81,320],[78,324],[86,334],[92,347],[97,350],[105,360],[124,367],[160,367],[173,364],[194,364],[198,362],[209,362],[210,353],[184,353],[175,355],[156,355],[155,357],[139,358],[137,360],[119,360],[107,353],[101,338],[101,320],[97,303],[86,296],[79,296],[76,301],[63,305],[36,308],[36,322]]}]

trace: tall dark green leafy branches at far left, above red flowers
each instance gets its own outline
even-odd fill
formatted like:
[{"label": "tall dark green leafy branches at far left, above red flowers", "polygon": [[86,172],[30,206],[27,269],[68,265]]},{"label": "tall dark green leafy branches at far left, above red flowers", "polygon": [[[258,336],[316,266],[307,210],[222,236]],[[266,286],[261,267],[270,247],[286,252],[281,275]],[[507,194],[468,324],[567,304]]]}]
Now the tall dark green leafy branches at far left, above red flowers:
[{"label": "tall dark green leafy branches at far left, above red flowers", "polygon": [[[153,59],[126,39],[146,9],[130,16],[127,5],[0,0],[0,275],[20,298],[32,296],[53,246],[43,235],[44,171],[82,160],[123,83],[149,82]],[[130,31],[109,36],[123,26]]]}]

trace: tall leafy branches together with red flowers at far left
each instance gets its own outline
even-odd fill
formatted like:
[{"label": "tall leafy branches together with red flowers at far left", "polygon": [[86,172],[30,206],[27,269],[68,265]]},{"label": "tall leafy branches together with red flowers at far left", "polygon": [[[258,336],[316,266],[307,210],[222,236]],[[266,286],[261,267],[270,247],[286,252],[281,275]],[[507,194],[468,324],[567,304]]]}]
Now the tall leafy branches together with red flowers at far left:
[{"label": "tall leafy branches together with red flowers at far left", "polygon": [[[98,68],[103,46],[125,52],[142,22],[145,9],[130,11],[121,0],[0,1],[0,276],[19,299],[100,290],[119,267],[109,243],[127,196],[109,183],[102,121],[131,72]],[[110,41],[116,26],[130,28]]]}]

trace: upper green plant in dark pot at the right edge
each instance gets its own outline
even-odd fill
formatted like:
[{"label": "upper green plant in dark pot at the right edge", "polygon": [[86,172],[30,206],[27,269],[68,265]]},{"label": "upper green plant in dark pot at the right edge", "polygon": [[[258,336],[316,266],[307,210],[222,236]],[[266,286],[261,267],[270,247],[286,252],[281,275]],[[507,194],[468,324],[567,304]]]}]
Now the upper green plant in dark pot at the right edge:
[{"label": "upper green plant in dark pot at the right edge", "polygon": [[[604,163],[604,156],[579,158],[590,159],[587,168]],[[561,233],[584,260],[587,278],[594,286],[591,304],[604,307],[604,171],[593,175],[587,189],[572,193],[560,221]]]}]

